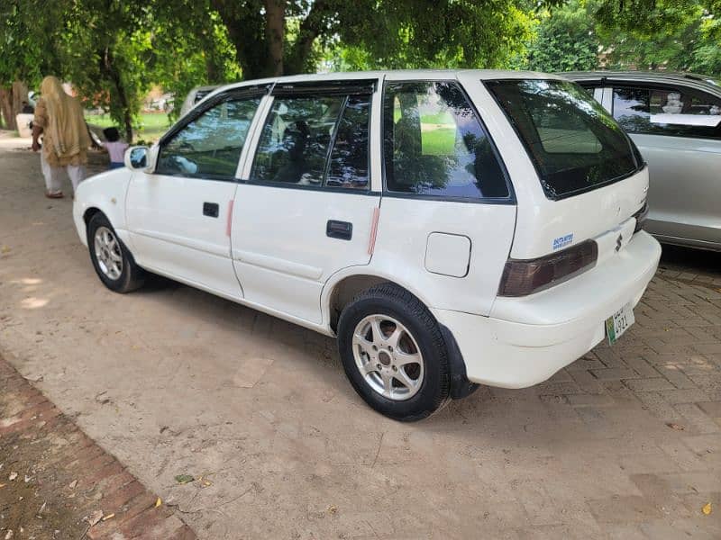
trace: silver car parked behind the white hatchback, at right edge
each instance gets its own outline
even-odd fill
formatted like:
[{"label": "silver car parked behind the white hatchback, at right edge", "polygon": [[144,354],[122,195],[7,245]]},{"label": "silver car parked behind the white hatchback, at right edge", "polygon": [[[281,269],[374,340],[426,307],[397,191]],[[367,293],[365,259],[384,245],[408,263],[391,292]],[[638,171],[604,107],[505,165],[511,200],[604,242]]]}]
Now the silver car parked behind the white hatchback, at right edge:
[{"label": "silver car parked behind the white hatchback, at right edge", "polygon": [[646,229],[669,244],[721,250],[721,82],[667,72],[574,72],[648,161]]}]

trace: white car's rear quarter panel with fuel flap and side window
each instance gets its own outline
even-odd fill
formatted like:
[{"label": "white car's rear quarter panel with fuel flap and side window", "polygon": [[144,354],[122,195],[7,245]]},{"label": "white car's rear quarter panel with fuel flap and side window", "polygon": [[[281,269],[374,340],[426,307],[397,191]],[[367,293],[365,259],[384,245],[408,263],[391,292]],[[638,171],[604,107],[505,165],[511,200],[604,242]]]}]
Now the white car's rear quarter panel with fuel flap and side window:
[{"label": "white car's rear quarter panel with fuel flap and side window", "polygon": [[488,136],[488,99],[473,74],[386,77],[372,266],[432,308],[488,315],[511,247],[516,201]]}]

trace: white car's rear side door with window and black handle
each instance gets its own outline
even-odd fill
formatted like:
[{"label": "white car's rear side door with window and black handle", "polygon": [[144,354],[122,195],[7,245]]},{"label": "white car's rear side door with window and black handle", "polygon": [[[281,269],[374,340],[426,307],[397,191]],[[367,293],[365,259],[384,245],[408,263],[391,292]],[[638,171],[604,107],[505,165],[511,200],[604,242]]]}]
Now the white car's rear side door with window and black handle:
[{"label": "white car's rear side door with window and black handle", "polygon": [[320,324],[328,278],[369,263],[380,200],[369,164],[376,87],[273,88],[233,210],[233,264],[247,302]]}]

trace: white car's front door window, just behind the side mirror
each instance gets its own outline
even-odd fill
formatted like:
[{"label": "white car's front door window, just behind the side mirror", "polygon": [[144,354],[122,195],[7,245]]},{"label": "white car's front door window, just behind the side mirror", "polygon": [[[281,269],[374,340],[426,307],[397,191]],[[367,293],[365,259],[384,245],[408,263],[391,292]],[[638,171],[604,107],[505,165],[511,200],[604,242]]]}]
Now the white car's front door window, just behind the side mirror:
[{"label": "white car's front door window, just behind the side mirror", "polygon": [[232,179],[259,98],[217,103],[160,148],[156,173]]}]

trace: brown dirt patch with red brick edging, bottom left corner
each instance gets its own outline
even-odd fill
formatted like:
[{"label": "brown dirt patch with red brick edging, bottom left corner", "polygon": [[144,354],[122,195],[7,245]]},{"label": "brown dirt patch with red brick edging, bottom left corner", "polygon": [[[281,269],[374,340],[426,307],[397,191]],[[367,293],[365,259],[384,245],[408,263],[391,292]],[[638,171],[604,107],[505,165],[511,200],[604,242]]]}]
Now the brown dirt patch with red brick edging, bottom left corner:
[{"label": "brown dirt patch with red brick edging, bottom left corner", "polygon": [[196,538],[2,357],[0,388],[0,538]]}]

